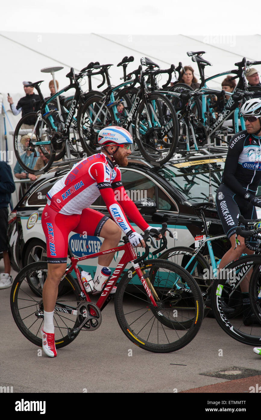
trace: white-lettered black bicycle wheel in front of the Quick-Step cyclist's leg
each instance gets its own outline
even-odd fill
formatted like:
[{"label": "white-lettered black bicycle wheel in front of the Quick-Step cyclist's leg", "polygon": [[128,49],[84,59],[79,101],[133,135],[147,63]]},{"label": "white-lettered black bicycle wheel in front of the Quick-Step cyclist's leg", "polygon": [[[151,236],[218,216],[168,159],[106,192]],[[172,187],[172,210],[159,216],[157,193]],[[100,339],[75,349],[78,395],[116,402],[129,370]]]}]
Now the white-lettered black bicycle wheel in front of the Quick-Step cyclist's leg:
[{"label": "white-lettered black bicycle wheel in front of the Quick-Step cyclist's leg", "polygon": [[[257,283],[249,287],[249,304],[243,304],[245,295],[240,291],[240,283],[243,279],[250,281],[255,273],[256,266],[261,265],[258,255],[240,257],[237,261],[227,264],[222,273],[223,278],[217,278],[212,286],[211,307],[220,327],[233,339],[250,346],[260,345],[261,323],[260,316],[256,319],[256,325],[245,325],[249,317],[252,318]],[[253,271],[252,271],[253,270]],[[233,309],[234,313],[226,312],[226,308]]]}]

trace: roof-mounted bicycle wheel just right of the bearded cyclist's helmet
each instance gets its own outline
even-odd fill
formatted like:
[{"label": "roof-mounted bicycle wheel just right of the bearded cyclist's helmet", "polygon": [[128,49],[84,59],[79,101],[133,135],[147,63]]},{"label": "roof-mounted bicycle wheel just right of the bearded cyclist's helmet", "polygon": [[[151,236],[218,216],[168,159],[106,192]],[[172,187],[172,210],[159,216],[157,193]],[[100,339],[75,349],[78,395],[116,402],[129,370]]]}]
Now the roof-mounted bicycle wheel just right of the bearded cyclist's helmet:
[{"label": "roof-mounted bicycle wheel just right of the bearded cyclist's helmet", "polygon": [[178,118],[171,102],[160,94],[143,101],[135,118],[135,140],[141,154],[160,165],[172,157],[178,142]]}]

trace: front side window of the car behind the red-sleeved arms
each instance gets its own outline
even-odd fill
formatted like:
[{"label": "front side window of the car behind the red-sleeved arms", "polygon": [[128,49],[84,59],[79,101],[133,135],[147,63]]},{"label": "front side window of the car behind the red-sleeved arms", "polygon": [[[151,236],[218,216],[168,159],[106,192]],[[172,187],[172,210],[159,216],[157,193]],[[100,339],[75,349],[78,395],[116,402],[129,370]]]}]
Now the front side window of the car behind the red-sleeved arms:
[{"label": "front side window of the car behind the red-sleeved arms", "polygon": [[121,170],[121,181],[132,201],[151,198],[156,202],[158,210],[177,211],[167,194],[143,173]]}]

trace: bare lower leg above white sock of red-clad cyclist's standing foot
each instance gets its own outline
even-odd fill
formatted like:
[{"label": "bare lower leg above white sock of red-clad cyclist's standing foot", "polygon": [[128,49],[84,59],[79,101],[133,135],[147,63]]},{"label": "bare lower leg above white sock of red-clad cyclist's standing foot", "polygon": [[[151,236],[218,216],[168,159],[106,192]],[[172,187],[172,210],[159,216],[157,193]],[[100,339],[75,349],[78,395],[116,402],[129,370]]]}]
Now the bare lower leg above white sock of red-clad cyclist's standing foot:
[{"label": "bare lower leg above white sock of red-clad cyclist's standing foot", "polygon": [[57,299],[61,277],[66,270],[66,264],[48,264],[47,279],[43,287],[43,304],[46,312],[52,312]]}]

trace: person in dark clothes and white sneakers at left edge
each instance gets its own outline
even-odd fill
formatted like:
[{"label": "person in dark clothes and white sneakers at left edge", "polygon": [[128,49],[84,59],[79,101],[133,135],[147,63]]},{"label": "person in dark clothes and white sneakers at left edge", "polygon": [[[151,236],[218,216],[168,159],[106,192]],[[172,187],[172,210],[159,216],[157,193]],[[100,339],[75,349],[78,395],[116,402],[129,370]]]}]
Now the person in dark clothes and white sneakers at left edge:
[{"label": "person in dark clothes and white sneakers at left edge", "polygon": [[8,205],[11,193],[15,191],[15,184],[10,166],[0,161],[0,252],[3,252],[4,273],[0,274],[0,289],[12,286],[10,276],[11,265],[7,250]]}]

